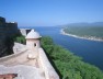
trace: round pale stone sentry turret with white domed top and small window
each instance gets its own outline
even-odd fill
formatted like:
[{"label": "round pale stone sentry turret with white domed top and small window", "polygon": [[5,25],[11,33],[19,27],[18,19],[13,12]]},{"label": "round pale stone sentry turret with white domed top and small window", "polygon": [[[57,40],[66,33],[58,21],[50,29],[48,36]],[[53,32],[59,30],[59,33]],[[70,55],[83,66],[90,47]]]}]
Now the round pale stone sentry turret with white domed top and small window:
[{"label": "round pale stone sentry turret with white domed top and small window", "polygon": [[35,32],[34,30],[31,30],[31,32],[26,35],[26,46],[28,49],[36,50],[41,47],[39,38],[42,36]]}]

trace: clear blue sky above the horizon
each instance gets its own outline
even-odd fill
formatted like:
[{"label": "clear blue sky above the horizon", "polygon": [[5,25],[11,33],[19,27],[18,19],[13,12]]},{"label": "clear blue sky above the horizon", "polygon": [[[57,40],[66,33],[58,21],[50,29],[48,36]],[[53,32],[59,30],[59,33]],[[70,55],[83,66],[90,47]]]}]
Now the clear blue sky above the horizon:
[{"label": "clear blue sky above the horizon", "polygon": [[103,22],[103,0],[0,0],[0,16],[19,26]]}]

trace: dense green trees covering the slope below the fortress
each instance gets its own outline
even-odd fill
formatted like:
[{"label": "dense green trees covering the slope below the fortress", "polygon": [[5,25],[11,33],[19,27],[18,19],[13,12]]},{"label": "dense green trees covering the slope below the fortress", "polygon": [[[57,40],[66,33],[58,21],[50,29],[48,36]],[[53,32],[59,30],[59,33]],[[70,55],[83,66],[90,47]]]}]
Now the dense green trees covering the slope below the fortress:
[{"label": "dense green trees covering the slope below the fortress", "polygon": [[50,37],[42,37],[42,46],[61,79],[103,79],[103,72],[98,67],[82,61],[81,57],[55,45]]}]

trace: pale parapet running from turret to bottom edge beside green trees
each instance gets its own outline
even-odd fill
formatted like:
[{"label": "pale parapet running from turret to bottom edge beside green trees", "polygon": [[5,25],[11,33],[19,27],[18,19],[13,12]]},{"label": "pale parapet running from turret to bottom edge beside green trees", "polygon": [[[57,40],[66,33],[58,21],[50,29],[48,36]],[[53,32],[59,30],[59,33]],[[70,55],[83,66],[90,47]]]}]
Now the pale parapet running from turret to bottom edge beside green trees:
[{"label": "pale parapet running from turret to bottom edge beside green trees", "polygon": [[52,64],[49,63],[43,48],[39,48],[38,53],[39,53],[39,63],[43,70],[45,71],[46,79],[59,79],[59,76],[57,75]]}]

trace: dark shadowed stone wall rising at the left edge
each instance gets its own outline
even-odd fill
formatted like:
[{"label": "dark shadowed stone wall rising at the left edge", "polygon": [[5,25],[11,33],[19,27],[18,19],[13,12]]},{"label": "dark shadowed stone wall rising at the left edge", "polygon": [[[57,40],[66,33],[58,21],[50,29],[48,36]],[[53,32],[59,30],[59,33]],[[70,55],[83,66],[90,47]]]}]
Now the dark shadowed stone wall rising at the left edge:
[{"label": "dark shadowed stone wall rising at the left edge", "polygon": [[4,18],[0,16],[0,57],[12,54],[9,49],[12,46],[10,37],[19,33],[18,23],[7,23]]}]

